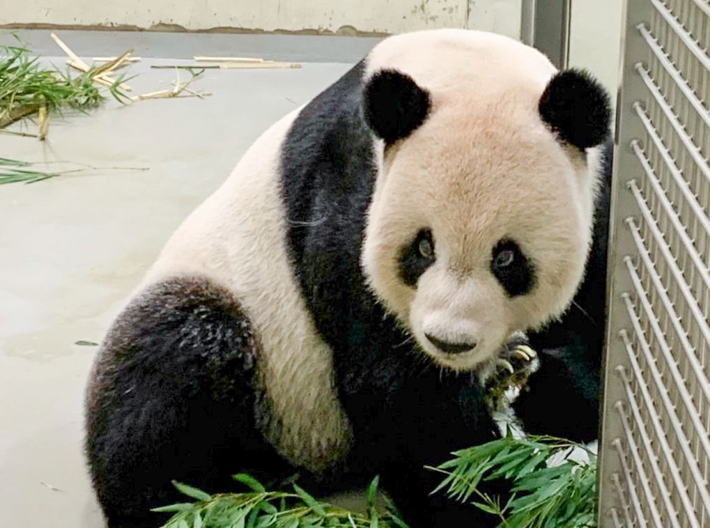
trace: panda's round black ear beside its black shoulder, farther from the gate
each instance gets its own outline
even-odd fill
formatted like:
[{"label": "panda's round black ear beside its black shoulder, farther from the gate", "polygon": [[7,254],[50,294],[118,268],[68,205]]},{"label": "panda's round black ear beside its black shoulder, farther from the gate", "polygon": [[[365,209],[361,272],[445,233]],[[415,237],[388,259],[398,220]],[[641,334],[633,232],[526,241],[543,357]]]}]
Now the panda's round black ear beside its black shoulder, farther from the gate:
[{"label": "panda's round black ear beside its black shoulder, farther from the gate", "polygon": [[415,131],[427,119],[430,106],[429,92],[396,70],[376,72],[365,86],[365,120],[388,144]]}]

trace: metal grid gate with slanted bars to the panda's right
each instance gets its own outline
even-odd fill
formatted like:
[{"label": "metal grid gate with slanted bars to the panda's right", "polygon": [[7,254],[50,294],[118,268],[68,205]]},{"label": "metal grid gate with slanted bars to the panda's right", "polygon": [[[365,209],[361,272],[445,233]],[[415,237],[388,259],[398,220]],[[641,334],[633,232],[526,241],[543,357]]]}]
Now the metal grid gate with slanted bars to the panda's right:
[{"label": "metal grid gate with slanted bars to the panda's right", "polygon": [[599,526],[710,528],[710,1],[624,16]]}]

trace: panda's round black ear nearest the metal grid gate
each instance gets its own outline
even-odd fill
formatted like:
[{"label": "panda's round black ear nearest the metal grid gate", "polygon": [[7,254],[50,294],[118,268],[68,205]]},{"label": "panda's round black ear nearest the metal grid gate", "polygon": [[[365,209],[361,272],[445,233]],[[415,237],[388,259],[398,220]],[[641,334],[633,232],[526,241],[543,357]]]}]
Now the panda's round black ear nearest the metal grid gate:
[{"label": "panda's round black ear nearest the metal grid gate", "polygon": [[538,109],[552,131],[577,148],[599,145],[609,135],[609,96],[584,70],[564,70],[552,77]]}]

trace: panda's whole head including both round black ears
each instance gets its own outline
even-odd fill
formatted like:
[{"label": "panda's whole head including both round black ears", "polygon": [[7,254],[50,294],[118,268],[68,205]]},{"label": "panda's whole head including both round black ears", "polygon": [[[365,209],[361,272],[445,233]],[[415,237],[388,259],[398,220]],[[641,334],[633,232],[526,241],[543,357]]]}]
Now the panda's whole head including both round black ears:
[{"label": "panda's whole head including both round black ears", "polygon": [[371,66],[364,87],[378,176],[362,267],[419,348],[454,370],[561,314],[591,243],[608,96],[525,53],[537,65],[480,75],[460,61],[446,75],[424,53],[407,73]]}]

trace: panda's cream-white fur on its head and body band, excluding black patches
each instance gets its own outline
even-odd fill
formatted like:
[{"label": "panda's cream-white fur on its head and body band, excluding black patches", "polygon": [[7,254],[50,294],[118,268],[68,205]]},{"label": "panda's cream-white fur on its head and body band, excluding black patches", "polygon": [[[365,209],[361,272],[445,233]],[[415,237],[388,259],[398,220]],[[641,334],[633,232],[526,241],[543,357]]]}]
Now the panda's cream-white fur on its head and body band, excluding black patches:
[{"label": "panda's cream-white fur on its head and body band, excluding black patches", "polygon": [[[484,366],[513,331],[542,324],[572,299],[591,238],[596,149],[585,163],[555,141],[537,113],[555,67],[510,38],[452,29],[397,35],[366,59],[367,72],[382,67],[429,89],[432,110],[387,155],[376,141],[380,177],[364,270],[378,298],[427,353],[449,368]],[[317,471],[343,456],[351,431],[334,390],[332,353],[315,331],[283,237],[288,219],[275,154],[299,112],[258,138],[170,238],[143,284],[197,273],[234,292],[261,341],[260,371],[275,414],[263,433],[282,456]],[[452,246],[437,242],[439,262],[413,292],[397,276],[392,255],[422,221],[465,235],[442,240]],[[507,299],[487,269],[490,248],[511,227],[524,249],[545,260],[535,293],[520,299]],[[474,334],[479,344],[448,358],[427,343],[424,331],[452,339]]]}]

